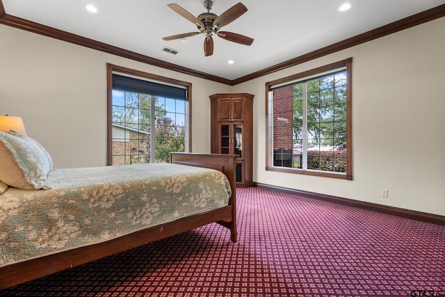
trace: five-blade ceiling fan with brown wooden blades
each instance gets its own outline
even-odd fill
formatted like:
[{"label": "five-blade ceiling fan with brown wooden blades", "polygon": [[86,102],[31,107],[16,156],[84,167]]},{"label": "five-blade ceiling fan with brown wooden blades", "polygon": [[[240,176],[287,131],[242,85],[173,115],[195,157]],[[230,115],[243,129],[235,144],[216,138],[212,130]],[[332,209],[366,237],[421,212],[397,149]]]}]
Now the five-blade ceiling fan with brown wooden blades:
[{"label": "five-blade ceiling fan with brown wooden blades", "polygon": [[248,11],[248,9],[243,5],[243,3],[238,3],[227,9],[220,16],[211,13],[211,7],[213,6],[213,1],[205,0],[204,8],[207,9],[207,13],[202,13],[195,17],[191,13],[189,13],[181,6],[176,3],[168,4],[168,7],[175,10],[179,15],[188,19],[188,21],[192,22],[197,26],[198,32],[190,32],[190,33],[182,33],[178,35],[172,35],[162,38],[163,40],[175,40],[180,38],[186,38],[189,36],[197,35],[203,33],[204,38],[204,56],[211,56],[213,54],[213,38],[211,37],[213,33],[218,35],[220,38],[224,38],[225,40],[229,40],[232,42],[239,43],[241,45],[252,45],[253,39],[241,34],[220,31],[222,26],[225,26],[231,22],[233,22],[238,17],[241,17],[243,13]]}]

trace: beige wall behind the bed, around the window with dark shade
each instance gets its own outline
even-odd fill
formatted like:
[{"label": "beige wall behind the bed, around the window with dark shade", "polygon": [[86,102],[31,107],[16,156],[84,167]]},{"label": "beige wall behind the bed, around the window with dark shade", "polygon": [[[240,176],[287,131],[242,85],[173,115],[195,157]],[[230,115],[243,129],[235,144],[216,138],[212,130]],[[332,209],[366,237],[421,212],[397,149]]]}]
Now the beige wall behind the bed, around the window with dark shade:
[{"label": "beige wall behind the bed, around the window with dark shade", "polygon": [[106,165],[106,63],[192,83],[192,150],[210,152],[210,99],[230,86],[0,25],[0,114],[26,132],[57,168]]}]

